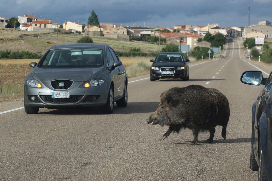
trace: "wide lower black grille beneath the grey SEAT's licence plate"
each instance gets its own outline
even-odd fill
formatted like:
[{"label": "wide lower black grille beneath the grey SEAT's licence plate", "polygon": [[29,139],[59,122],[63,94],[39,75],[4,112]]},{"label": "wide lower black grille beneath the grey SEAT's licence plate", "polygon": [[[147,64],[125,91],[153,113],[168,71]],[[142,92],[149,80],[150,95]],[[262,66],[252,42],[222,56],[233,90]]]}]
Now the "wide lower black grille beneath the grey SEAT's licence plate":
[{"label": "wide lower black grille beneath the grey SEAT's licence plate", "polygon": [[40,96],[41,100],[50,104],[69,104],[81,100],[83,95],[70,95],[69,98],[52,98],[52,96]]}]

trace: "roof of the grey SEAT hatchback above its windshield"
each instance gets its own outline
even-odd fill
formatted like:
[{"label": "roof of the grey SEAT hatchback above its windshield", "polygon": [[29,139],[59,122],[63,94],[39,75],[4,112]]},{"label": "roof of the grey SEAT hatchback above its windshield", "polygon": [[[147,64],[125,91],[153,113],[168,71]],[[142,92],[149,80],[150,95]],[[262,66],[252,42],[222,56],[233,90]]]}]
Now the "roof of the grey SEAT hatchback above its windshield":
[{"label": "roof of the grey SEAT hatchback above its windshield", "polygon": [[71,43],[71,44],[63,44],[52,46],[52,49],[65,49],[65,48],[96,48],[96,49],[104,49],[108,45],[106,44],[98,44],[98,43]]}]

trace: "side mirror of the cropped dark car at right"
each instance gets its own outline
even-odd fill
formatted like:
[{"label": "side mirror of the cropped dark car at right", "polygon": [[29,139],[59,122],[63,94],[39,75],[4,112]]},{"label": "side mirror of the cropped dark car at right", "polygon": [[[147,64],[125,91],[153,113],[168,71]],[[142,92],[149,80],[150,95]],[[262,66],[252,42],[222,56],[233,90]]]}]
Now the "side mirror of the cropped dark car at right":
[{"label": "side mirror of the cropped dark car at right", "polygon": [[240,80],[244,84],[264,85],[265,82],[267,81],[267,78],[263,78],[263,73],[261,71],[245,71],[241,75]]}]

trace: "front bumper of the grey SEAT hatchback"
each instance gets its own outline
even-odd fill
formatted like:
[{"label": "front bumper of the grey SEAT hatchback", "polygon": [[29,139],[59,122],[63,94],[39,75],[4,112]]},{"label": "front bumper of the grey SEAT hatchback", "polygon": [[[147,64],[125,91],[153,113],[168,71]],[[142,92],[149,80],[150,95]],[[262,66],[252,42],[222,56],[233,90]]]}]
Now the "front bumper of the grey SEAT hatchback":
[{"label": "front bumper of the grey SEAT hatchback", "polygon": [[[53,90],[49,82],[41,82],[44,88],[33,88],[27,85],[24,86],[24,102],[31,107],[84,107],[84,106],[102,106],[107,102],[109,84],[105,81],[104,84],[97,87],[82,87],[85,82],[74,82],[67,90]],[[52,91],[68,91],[70,98],[55,98],[53,99]],[[31,100],[35,97],[35,100]]]}]

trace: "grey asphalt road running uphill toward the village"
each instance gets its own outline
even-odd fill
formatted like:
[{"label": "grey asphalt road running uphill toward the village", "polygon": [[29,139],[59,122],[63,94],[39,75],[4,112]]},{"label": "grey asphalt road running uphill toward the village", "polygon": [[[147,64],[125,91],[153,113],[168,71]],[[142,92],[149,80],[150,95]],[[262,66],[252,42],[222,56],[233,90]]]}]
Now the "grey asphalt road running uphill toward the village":
[{"label": "grey asphalt road running uphill toward the village", "polygon": [[[128,106],[111,115],[92,108],[0,114],[0,180],[257,180],[249,169],[251,106],[263,87],[240,82],[243,71],[257,68],[240,58],[237,41],[229,40],[225,58],[191,64],[189,81],[129,79]],[[189,145],[187,129],[160,141],[168,126],[147,125],[163,91],[190,84],[228,98],[226,140],[217,126],[213,143],[200,133]],[[22,100],[2,102],[0,112],[21,106]]]}]

